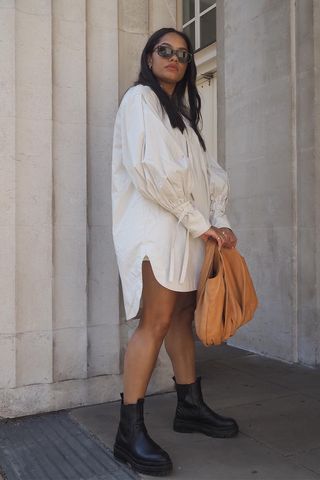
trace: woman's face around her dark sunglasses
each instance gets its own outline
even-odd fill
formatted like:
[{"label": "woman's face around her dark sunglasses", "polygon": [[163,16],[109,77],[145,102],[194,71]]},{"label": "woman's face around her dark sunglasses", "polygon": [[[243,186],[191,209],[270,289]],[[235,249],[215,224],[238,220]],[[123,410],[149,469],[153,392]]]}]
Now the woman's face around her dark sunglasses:
[{"label": "woman's face around her dark sunglasses", "polygon": [[[171,47],[173,50],[188,51],[185,40],[177,33],[167,33],[160,38],[155,48],[159,45]],[[152,72],[159,80],[162,88],[169,95],[173,93],[176,84],[184,77],[188,66],[187,63],[180,63],[176,55],[171,58],[164,58],[158,55],[157,51],[149,55],[148,65],[152,68]]]}]

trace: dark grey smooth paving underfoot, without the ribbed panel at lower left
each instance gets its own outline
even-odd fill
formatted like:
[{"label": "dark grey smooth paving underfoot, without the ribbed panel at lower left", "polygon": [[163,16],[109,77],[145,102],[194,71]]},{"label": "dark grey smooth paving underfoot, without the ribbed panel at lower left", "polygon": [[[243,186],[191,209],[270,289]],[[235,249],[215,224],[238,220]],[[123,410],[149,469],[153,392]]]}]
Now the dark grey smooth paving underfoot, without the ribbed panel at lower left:
[{"label": "dark grey smooth paving underfoot, without the ribbed panel at lower left", "polygon": [[[234,416],[240,434],[213,439],[175,433],[176,394],[147,397],[146,424],[172,457],[171,480],[320,480],[320,369],[198,345],[198,374],[207,403]],[[112,448],[119,402],[70,413]]]}]

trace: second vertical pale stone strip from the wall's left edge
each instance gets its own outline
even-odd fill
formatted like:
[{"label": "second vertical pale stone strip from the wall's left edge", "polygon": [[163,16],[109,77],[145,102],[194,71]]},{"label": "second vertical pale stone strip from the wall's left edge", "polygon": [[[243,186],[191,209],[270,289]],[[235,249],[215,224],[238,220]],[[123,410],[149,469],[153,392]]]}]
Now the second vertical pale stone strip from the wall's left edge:
[{"label": "second vertical pale stone strip from the wall's left edge", "polygon": [[51,1],[16,4],[16,380],[52,381]]}]

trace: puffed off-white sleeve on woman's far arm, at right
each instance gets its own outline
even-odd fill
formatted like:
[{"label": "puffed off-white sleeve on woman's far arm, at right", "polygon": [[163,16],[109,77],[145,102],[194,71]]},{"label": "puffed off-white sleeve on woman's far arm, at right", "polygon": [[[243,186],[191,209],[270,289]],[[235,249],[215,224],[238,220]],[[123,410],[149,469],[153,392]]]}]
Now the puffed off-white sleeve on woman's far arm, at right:
[{"label": "puffed off-white sleeve on woman's far arm, at right", "polygon": [[227,172],[218,162],[208,155],[208,173],[210,186],[210,222],[217,228],[231,228],[225,214],[230,190]]}]

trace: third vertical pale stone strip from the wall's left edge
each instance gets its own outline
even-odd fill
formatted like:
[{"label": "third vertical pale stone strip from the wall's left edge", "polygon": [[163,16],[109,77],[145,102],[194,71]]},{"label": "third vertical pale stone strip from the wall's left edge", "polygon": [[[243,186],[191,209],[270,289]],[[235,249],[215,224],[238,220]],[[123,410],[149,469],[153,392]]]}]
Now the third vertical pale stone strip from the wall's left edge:
[{"label": "third vertical pale stone strip from the wall's left edge", "polygon": [[54,380],[87,376],[86,2],[53,2]]}]

